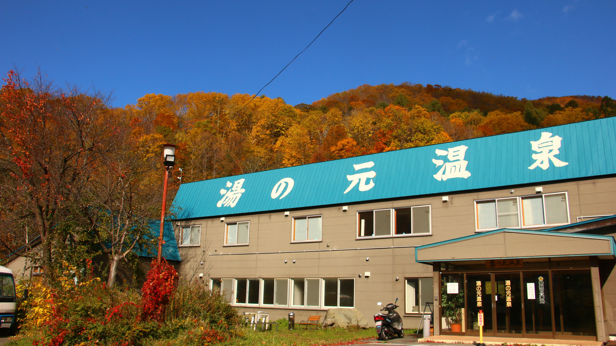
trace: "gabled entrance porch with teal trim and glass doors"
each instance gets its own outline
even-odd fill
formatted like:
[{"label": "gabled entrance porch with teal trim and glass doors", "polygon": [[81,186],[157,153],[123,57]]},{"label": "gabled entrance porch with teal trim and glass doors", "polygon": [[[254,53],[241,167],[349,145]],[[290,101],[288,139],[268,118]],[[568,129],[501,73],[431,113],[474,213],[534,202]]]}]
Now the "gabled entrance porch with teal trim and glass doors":
[{"label": "gabled entrance porch with teal trim and glass doors", "polygon": [[511,229],[417,247],[433,266],[434,334],[479,336],[481,310],[485,337],[604,341],[598,267],[615,248],[612,236]]}]

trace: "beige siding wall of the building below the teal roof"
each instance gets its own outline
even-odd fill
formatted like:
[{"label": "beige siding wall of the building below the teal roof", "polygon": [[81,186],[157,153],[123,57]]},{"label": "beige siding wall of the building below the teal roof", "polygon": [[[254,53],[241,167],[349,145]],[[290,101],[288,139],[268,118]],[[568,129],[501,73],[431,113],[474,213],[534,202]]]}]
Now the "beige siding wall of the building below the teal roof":
[{"label": "beige siding wall of the building below the teal roof", "polygon": [[[398,311],[404,311],[405,277],[432,276],[431,266],[415,262],[414,247],[392,246],[420,246],[472,235],[476,231],[474,201],[535,195],[535,187],[539,186],[543,187],[543,193],[567,191],[570,222],[576,222],[576,217],[580,215],[616,214],[616,178],[609,177],[448,193],[444,194],[449,196],[447,203],[442,202],[444,195],[438,195],[349,205],[346,212],[342,211],[342,206],[332,206],[291,211],[289,217],[285,217],[284,212],[226,217],[225,222],[250,222],[248,246],[223,246],[225,222],[219,219],[182,221],[180,225],[201,225],[201,243],[200,246],[180,247],[180,275],[193,280],[203,273],[202,280],[205,282],[209,281],[208,278],[355,278],[355,307],[372,324],[371,316],[379,310],[376,302],[389,303],[400,297]],[[513,194],[509,192],[511,189],[514,190]],[[358,211],[425,204],[431,205],[432,235],[357,239]],[[293,217],[306,215],[323,215],[322,241],[291,243]],[[179,234],[177,226],[176,234]],[[371,249],[373,247],[389,249]],[[256,252],[259,254],[254,254]],[[367,261],[366,257],[370,260]],[[293,260],[296,263],[293,264]],[[365,278],[365,272],[371,273],[369,278]],[[395,281],[396,277],[399,281]],[[274,319],[286,317],[290,311],[296,312],[296,319],[300,320],[315,314],[314,310],[298,308],[241,308],[241,311],[248,312],[257,310],[269,311]],[[325,311],[317,314],[325,315]],[[416,328],[418,323],[417,318],[405,318],[405,328]]]}]

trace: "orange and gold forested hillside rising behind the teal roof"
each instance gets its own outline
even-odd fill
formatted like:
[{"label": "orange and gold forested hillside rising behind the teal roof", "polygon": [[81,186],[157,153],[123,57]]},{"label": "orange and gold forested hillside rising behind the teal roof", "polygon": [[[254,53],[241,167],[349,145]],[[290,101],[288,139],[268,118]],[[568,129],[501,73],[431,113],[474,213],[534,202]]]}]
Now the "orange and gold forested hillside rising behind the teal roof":
[{"label": "orange and gold forested hillside rising behind the teal roof", "polygon": [[363,85],[311,104],[265,95],[148,94],[116,110],[155,150],[178,145],[182,182],[524,131],[616,115],[610,97],[538,100],[402,83]]}]

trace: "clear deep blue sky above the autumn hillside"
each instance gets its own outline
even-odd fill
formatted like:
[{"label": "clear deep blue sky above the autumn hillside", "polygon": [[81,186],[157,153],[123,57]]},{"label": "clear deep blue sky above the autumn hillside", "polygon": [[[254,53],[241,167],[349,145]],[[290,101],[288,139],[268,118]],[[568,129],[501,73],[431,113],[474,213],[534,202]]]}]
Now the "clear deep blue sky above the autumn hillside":
[{"label": "clear deep blue sky above the autumn hillside", "polygon": [[[346,6],[326,1],[2,1],[0,70],[145,94],[254,94]],[[362,84],[527,99],[616,98],[616,1],[367,1],[261,94],[311,103]]]}]

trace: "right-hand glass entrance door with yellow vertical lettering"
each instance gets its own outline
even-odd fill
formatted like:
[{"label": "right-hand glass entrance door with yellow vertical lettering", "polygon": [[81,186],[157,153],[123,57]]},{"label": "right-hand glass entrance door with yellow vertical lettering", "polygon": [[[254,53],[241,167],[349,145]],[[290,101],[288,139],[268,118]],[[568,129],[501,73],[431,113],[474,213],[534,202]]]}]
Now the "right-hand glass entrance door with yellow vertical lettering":
[{"label": "right-hand glass entrance door with yellow vertical lettering", "polygon": [[522,285],[520,272],[494,274],[496,334],[522,336]]}]

